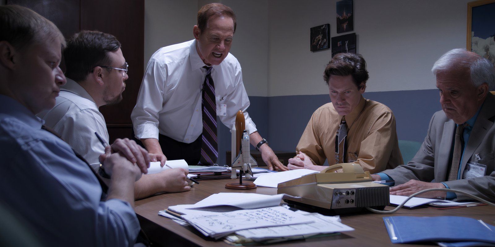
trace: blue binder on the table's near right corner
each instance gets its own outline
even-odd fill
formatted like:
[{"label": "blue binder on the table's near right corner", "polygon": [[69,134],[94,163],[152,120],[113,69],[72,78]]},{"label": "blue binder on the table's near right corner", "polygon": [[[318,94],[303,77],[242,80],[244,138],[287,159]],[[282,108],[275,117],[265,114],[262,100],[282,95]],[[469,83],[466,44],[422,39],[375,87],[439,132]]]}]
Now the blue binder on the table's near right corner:
[{"label": "blue binder on the table's near right corner", "polygon": [[392,216],[383,217],[383,221],[394,244],[468,241],[495,244],[495,227],[472,218]]}]

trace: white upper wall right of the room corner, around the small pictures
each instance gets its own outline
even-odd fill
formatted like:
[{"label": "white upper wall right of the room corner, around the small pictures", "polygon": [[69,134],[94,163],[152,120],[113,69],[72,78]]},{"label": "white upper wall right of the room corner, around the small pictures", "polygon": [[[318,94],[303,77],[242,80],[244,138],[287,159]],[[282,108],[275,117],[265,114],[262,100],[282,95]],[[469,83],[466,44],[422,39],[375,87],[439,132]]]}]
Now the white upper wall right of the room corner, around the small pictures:
[{"label": "white upper wall right of the room corner, around the small pictures", "polygon": [[[327,93],[322,74],[331,50],[309,51],[309,28],[329,23],[330,36],[338,36],[336,1],[268,1],[268,96]],[[354,0],[353,32],[368,64],[367,91],[435,88],[433,63],[465,47],[469,1]]]}]

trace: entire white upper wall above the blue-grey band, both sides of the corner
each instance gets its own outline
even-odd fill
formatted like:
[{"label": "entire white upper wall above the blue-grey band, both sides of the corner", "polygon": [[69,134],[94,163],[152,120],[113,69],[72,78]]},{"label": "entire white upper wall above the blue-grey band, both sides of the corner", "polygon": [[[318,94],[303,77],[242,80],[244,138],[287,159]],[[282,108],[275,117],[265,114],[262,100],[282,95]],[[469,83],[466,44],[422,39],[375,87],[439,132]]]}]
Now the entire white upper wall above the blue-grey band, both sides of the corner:
[{"label": "entire white upper wall above the blue-grey band, both sides of the corner", "polygon": [[[146,0],[145,62],[162,46],[193,39],[198,8],[212,1]],[[231,53],[243,67],[248,95],[327,93],[322,73],[331,50],[309,51],[309,29],[329,23],[331,37],[338,36],[336,1],[220,1],[238,16]],[[465,46],[469,1],[354,0],[357,52],[370,72],[367,91],[434,89],[433,63]]]}]

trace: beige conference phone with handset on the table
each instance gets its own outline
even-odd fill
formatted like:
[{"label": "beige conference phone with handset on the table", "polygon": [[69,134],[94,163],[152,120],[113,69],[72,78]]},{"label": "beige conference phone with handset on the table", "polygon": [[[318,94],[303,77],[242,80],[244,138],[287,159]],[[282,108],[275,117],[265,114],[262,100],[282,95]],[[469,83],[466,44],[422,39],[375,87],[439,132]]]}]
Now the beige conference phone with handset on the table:
[{"label": "beige conference phone with handset on the table", "polygon": [[[335,172],[342,169],[343,172]],[[369,206],[383,209],[389,205],[389,186],[373,183],[369,171],[359,164],[332,165],[319,173],[289,180],[278,185],[277,194],[301,197],[289,203],[304,204],[347,212]]]}]

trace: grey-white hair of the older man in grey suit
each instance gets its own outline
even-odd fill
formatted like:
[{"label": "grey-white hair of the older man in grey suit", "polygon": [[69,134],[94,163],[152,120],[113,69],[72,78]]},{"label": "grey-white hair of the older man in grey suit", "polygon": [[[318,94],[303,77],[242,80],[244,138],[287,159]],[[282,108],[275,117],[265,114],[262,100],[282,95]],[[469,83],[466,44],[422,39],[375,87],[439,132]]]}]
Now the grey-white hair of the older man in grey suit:
[{"label": "grey-white hair of the older man in grey suit", "polygon": [[433,65],[434,75],[447,69],[469,68],[474,86],[488,84],[489,90],[495,90],[495,68],[486,58],[473,56],[464,48],[451,49],[442,55]]}]

